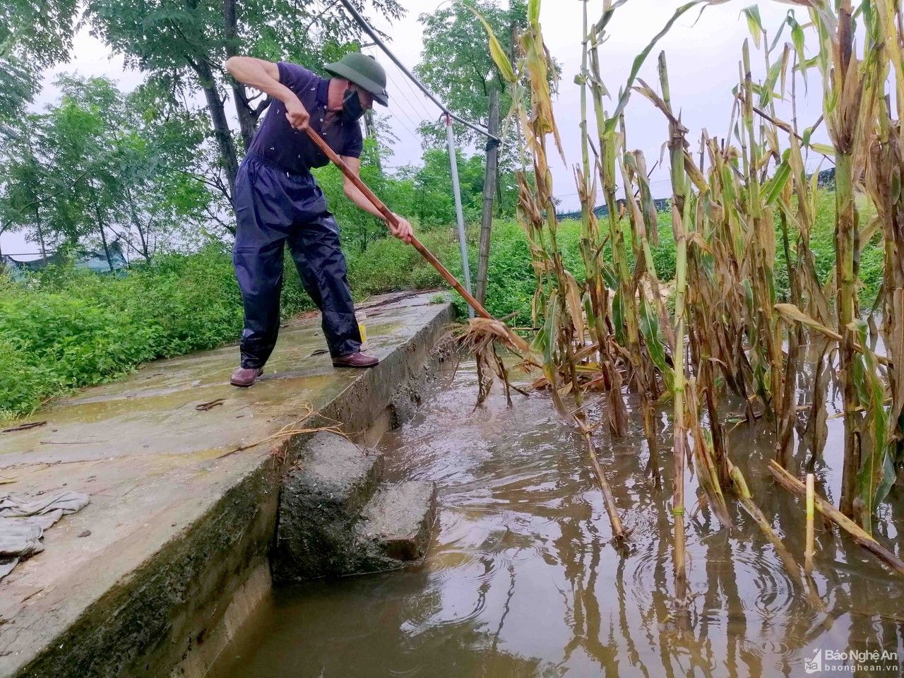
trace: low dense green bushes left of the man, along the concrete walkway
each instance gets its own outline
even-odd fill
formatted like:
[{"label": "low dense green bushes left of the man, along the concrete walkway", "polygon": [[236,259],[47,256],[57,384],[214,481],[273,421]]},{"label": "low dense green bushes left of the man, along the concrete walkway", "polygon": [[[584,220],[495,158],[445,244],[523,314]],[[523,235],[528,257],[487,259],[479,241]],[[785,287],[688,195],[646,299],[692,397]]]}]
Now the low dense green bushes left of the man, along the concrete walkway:
[{"label": "low dense green bushes left of the man, along the concrete walkway", "polygon": [[170,255],[122,278],[54,268],[0,282],[0,416],[108,381],[155,358],[234,340],[242,314],[221,247]]}]

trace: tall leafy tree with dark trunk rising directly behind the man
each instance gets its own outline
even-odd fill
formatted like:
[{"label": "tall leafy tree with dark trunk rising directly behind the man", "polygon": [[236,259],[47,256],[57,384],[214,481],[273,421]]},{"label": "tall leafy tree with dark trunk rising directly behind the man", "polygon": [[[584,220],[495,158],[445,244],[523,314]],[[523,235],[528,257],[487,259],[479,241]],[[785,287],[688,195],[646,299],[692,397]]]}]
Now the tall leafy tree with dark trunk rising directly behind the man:
[{"label": "tall leafy tree with dark trunk rising directly behind the man", "polygon": [[[402,13],[396,0],[370,0],[370,5],[393,19]],[[315,69],[325,54],[334,55],[359,33],[334,0],[88,0],[85,17],[127,65],[167,77],[176,93],[202,90],[230,200],[240,153],[226,114],[226,92],[232,94],[244,147],[268,100],[228,78],[223,61],[244,53],[289,58]]]}]

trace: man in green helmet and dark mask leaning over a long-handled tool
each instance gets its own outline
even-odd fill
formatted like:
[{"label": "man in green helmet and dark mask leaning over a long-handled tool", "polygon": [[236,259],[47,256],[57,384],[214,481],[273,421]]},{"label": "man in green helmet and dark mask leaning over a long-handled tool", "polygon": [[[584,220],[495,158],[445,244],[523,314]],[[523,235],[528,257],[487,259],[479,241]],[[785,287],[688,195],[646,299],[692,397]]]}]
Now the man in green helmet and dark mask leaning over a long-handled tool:
[{"label": "man in green helmet and dark mask leaning over a long-handled tool", "polygon": [[[363,140],[358,118],[373,101],[389,104],[386,71],[358,52],[329,63],[325,80],[294,63],[271,63],[234,56],[226,61],[232,76],[266,92],[273,102],[260,124],[235,182],[238,228],[232,263],[245,308],[241,364],[234,386],[247,387],[263,373],[279,330],[283,244],[295,259],[307,294],[323,315],[333,364],[372,367],[378,360],[361,353],[352,293],[345,278],[339,229],[310,170],[326,165],[326,155],[307,137],[310,126],[324,137],[358,174]],[[347,178],[344,193],[364,212],[382,214]],[[398,215],[397,215],[398,216]],[[411,225],[387,222],[392,234],[410,242]]]}]

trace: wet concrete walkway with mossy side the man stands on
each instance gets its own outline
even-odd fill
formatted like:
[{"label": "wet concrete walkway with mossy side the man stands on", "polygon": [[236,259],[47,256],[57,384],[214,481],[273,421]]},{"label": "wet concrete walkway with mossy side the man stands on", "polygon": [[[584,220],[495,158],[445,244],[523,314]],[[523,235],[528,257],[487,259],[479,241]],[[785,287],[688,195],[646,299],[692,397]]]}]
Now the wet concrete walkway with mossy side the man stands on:
[{"label": "wet concrete walkway with mossy side the man stands on", "polygon": [[91,495],[0,580],[0,676],[165,675],[202,645],[266,563],[279,478],[304,438],[274,436],[379,418],[452,318],[430,297],[364,305],[381,358],[370,371],[316,354],[325,342],[310,319],[282,330],[248,390],[229,385],[231,346],[150,363],[38,412],[42,427],[0,435],[0,476],[15,479],[5,490]]}]

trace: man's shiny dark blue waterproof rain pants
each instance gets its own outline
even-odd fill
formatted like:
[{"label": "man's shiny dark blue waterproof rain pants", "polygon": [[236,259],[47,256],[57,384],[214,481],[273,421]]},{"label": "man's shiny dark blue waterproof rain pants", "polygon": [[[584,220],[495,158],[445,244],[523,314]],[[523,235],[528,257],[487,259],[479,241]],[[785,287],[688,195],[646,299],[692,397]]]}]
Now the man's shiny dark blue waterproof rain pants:
[{"label": "man's shiny dark blue waterproof rain pants", "polygon": [[284,242],[323,315],[330,353],[361,350],[339,227],[314,177],[287,174],[259,155],[248,155],[236,176],[235,214],[232,263],[245,306],[241,366],[263,367],[277,343]]}]

